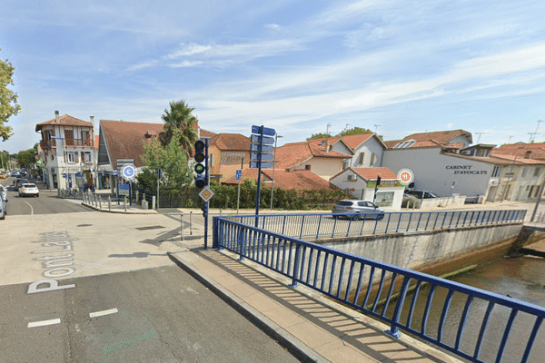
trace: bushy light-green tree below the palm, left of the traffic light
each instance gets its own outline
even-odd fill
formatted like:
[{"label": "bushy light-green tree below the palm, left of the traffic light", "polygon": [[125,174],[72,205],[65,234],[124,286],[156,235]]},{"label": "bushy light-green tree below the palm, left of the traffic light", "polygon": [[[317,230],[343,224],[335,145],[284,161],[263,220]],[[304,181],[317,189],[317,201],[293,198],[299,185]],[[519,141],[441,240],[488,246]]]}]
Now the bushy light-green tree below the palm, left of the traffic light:
[{"label": "bushy light-green tree below the palm, left of the traffic light", "polygon": [[162,189],[184,191],[193,182],[193,171],[187,164],[187,153],[178,142],[180,133],[180,130],[173,129],[173,137],[164,147],[156,138],[152,138],[150,143],[144,142],[142,161],[154,175],[161,168]]}]

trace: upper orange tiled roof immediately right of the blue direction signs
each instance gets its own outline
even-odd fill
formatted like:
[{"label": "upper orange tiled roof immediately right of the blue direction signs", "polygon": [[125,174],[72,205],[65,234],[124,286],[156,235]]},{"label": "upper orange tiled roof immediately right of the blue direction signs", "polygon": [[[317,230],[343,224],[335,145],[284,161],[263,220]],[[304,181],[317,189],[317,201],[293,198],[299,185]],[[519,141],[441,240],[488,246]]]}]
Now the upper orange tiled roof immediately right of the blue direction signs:
[{"label": "upper orange tiled roof immediately right of the blue direction signs", "polygon": [[314,142],[292,142],[276,148],[276,168],[277,169],[291,169],[297,165],[312,159],[318,158],[336,158],[345,159],[350,157],[342,152],[335,152],[326,150],[327,144],[319,146]]}]

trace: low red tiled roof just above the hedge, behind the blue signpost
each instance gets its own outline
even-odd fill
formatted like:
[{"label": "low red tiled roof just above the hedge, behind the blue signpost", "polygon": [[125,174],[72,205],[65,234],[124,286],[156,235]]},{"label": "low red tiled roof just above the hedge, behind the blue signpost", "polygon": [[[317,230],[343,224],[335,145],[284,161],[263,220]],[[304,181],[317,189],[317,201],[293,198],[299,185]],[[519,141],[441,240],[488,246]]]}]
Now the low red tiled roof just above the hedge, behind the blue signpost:
[{"label": "low red tiled roof just above the hedge, behind the blue signpost", "polygon": [[[258,169],[244,169],[243,180],[252,178],[257,181]],[[272,169],[262,170],[262,182],[272,182]],[[237,184],[234,176],[223,181],[224,184]],[[332,183],[323,180],[311,171],[286,172],[276,169],[274,171],[274,187],[284,190],[310,191],[322,189],[338,189]]]}]

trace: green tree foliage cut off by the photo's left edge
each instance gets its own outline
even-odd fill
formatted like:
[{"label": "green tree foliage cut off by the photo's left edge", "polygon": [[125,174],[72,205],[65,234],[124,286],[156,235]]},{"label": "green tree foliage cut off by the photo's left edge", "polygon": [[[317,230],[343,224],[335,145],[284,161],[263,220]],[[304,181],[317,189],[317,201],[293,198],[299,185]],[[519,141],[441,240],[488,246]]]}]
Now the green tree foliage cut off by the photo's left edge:
[{"label": "green tree foliage cut off by the photo's left edge", "polygon": [[14,66],[7,59],[5,62],[0,59],[0,137],[3,141],[13,135],[12,128],[5,123],[21,110],[21,106],[17,103],[17,93],[7,88],[10,84],[14,85],[14,70]]}]

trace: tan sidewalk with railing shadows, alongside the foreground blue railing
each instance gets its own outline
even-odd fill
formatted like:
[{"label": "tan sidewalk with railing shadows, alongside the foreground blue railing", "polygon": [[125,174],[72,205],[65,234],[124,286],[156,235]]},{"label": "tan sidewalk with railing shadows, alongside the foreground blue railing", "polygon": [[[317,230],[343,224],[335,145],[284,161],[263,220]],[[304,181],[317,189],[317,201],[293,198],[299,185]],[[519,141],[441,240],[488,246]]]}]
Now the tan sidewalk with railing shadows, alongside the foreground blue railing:
[{"label": "tan sidewalk with railing shadows, alongside the foreground blue railing", "polygon": [[392,338],[380,322],[302,285],[293,289],[290,280],[230,252],[186,249],[169,257],[302,361],[461,361],[406,334]]}]

